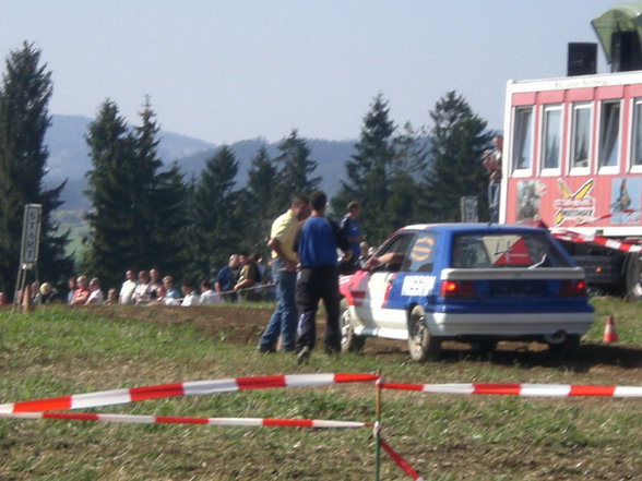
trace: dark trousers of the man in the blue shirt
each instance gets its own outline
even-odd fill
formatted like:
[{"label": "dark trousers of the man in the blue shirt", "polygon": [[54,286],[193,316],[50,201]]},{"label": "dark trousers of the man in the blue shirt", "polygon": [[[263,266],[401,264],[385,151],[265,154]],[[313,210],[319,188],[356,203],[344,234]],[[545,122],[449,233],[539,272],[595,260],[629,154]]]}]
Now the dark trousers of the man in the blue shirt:
[{"label": "dark trousers of the man in the blue shirt", "polygon": [[299,313],[297,352],[304,346],[314,348],[317,340],[317,309],[319,300],[325,306],[325,330],[323,342],[325,351],[341,351],[341,328],[338,276],[336,267],[324,265],[320,267],[302,268],[296,287],[297,310]]}]

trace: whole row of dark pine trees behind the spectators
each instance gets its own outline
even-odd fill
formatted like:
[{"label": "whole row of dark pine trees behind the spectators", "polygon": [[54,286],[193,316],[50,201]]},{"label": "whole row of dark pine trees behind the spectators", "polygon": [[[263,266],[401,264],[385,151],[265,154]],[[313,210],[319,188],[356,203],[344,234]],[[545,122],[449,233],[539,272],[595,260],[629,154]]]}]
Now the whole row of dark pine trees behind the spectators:
[{"label": "whole row of dark pine trees behind the spectators", "polygon": [[[0,290],[14,287],[28,203],[43,205],[39,278],[62,285],[74,272],[91,273],[110,287],[128,268],[153,266],[198,281],[212,277],[233,252],[266,254],[273,218],[295,193],[319,189],[318,161],[296,129],[278,144],[275,157],[265,147],[258,149],[245,185],[235,180],[239,163],[226,145],[199,176],[187,178],[176,161],[164,163],[158,155],[159,127],[148,97],[134,127],[106,99],[85,135],[92,163],[85,249],[67,256],[69,231],[61,232],[52,216],[64,182],[50,190],[43,184],[52,82],[40,56],[26,41],[11,51],[0,85]],[[406,224],[459,221],[463,195],[477,196],[482,218],[487,217],[480,168],[492,137],[487,121],[455,92],[437,101],[429,119],[417,130],[409,122],[395,125],[382,94],[362,119],[330,212],[338,218],[356,200],[371,245]]]}]

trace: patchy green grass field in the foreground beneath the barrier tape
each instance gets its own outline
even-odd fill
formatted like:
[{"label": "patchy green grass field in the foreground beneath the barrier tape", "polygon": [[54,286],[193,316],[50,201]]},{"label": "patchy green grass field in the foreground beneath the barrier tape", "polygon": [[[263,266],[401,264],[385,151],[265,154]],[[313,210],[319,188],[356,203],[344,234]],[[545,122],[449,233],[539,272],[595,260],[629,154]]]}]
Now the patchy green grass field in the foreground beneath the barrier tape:
[{"label": "patchy green grass field in the foreground beneath the barrier tape", "polygon": [[[491,359],[447,347],[417,364],[403,342],[364,354],[260,354],[260,330],[235,329],[223,310],[40,309],[0,313],[0,402],[118,387],[295,373],[374,373],[400,383],[641,385],[642,304],[594,299],[596,322],[575,360],[500,345]],[[139,308],[146,309],[146,308]],[[151,309],[151,308],[147,308]],[[133,313],[133,311],[131,311]],[[195,312],[195,311],[193,311]],[[261,325],[270,315],[252,311]],[[189,313],[189,314],[186,314]],[[619,341],[601,344],[606,315]],[[131,318],[130,318],[131,317]],[[140,316],[138,316],[140,317]],[[198,318],[197,318],[198,317]],[[221,326],[214,328],[214,324]],[[247,334],[250,333],[250,334]],[[642,399],[521,398],[384,390],[383,438],[425,479],[639,479]],[[248,390],[99,408],[132,414],[374,420],[372,384]],[[2,480],[369,480],[369,429],[133,425],[0,419]],[[385,455],[381,480],[409,479]]]}]

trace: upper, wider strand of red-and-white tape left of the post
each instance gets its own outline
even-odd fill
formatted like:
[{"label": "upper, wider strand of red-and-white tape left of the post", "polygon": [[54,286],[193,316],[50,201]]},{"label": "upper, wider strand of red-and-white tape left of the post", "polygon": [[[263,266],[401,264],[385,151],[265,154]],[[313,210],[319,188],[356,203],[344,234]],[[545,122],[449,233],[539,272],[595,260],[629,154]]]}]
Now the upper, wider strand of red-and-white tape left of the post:
[{"label": "upper, wider strand of red-and-white tape left of the post", "polygon": [[195,396],[272,387],[325,386],[340,383],[372,382],[377,381],[377,378],[378,376],[371,374],[292,374],[193,381],[9,402],[0,405],[0,413],[87,409],[173,396]]}]

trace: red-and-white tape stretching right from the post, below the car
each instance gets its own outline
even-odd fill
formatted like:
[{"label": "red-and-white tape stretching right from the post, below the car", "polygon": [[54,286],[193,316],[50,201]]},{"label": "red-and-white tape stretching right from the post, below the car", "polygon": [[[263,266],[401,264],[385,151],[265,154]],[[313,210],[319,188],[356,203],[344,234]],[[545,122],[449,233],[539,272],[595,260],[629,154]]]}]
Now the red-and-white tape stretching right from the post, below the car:
[{"label": "red-and-white tape stretching right from the post, below the car", "polygon": [[528,397],[642,397],[640,386],[591,386],[571,384],[399,384],[382,383],[383,389],[418,390],[430,394],[491,394]]}]

